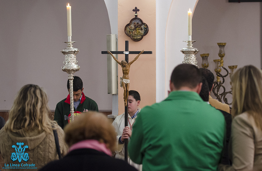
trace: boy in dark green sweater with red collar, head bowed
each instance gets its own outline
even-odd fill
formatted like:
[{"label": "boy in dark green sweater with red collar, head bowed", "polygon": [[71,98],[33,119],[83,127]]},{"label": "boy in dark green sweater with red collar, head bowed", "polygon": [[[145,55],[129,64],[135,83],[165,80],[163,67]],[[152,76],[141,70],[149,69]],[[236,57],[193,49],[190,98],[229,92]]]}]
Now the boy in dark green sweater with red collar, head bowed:
[{"label": "boy in dark green sweater with red collar, head bowed", "polygon": [[[67,89],[70,92],[69,80],[67,81]],[[88,111],[98,111],[96,102],[83,93],[83,81],[78,77],[74,76],[73,79],[73,95],[74,95],[74,115],[77,116],[80,113],[86,113]],[[62,129],[65,125],[70,123],[70,95],[67,98],[61,100],[56,104],[56,110],[54,114],[54,120],[58,123]]]}]

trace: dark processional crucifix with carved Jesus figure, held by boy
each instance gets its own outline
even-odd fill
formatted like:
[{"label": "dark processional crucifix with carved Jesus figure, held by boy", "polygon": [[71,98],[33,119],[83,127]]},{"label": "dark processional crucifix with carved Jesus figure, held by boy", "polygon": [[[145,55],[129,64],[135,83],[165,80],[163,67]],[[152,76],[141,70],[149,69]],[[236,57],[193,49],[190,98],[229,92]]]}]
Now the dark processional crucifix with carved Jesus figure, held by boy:
[{"label": "dark processional crucifix with carved Jesus figure, held by boy", "polygon": [[[124,102],[125,102],[125,127],[128,126],[128,89],[129,89],[129,69],[130,65],[137,60],[141,54],[152,54],[152,51],[128,51],[128,41],[125,41],[125,51],[102,51],[102,54],[110,54],[116,62],[121,65],[123,71],[123,77],[120,77],[120,86],[124,88]],[[113,54],[125,54],[125,60],[119,62]],[[128,63],[128,54],[138,54],[134,60]],[[121,86],[121,87],[122,87]],[[125,161],[128,161],[128,139],[125,139]]]}]

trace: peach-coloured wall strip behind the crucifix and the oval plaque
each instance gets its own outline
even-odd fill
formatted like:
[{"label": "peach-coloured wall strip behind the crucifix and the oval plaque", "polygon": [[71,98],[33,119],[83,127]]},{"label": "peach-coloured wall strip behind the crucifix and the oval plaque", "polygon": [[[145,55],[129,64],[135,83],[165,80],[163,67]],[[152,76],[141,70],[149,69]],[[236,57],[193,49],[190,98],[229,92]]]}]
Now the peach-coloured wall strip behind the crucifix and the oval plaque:
[{"label": "peach-coloured wall strip behind the crucifix and the oval plaque", "polygon": [[[155,0],[134,0],[132,3],[126,3],[125,0],[118,0],[118,50],[125,50],[125,40],[129,41],[129,51],[153,51],[153,54],[141,55],[130,67],[129,90],[136,90],[141,96],[139,107],[154,104],[156,101],[156,76],[155,76]],[[134,5],[131,5],[134,4]],[[125,35],[125,25],[134,18],[132,11],[137,7],[140,11],[138,17],[148,25],[149,31],[146,36],[139,42],[134,42]],[[129,55],[129,61],[133,60],[136,55]],[[125,55],[118,55],[118,60],[124,60]],[[118,65],[118,82],[120,76],[123,76],[122,68]],[[119,86],[119,84],[118,84]],[[118,115],[124,113],[123,88],[118,87]]]}]

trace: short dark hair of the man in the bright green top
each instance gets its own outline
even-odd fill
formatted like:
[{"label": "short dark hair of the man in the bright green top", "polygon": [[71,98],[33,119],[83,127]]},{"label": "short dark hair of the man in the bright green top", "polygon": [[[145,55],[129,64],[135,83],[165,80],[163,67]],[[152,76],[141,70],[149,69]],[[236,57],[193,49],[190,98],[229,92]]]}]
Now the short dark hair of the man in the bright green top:
[{"label": "short dark hair of the man in the bright green top", "polygon": [[195,88],[201,83],[201,80],[199,69],[192,64],[180,64],[174,68],[171,74],[171,82],[176,89],[184,86]]}]

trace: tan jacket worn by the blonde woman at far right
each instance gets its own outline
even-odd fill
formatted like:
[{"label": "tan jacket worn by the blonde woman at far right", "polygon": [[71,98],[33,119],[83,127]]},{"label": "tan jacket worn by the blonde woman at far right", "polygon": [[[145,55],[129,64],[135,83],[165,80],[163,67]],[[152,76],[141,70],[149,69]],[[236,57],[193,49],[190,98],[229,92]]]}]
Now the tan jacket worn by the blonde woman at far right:
[{"label": "tan jacket worn by the blonde woman at far right", "polygon": [[220,171],[249,171],[262,165],[262,131],[248,113],[237,115],[232,122],[230,165],[219,165]]}]

